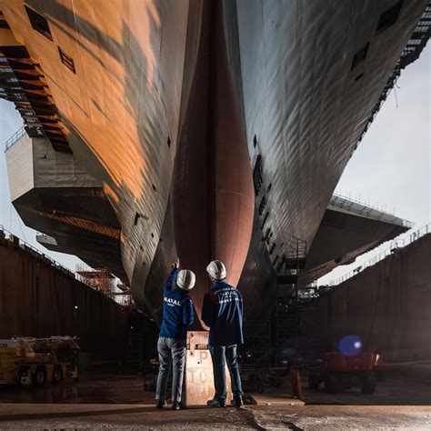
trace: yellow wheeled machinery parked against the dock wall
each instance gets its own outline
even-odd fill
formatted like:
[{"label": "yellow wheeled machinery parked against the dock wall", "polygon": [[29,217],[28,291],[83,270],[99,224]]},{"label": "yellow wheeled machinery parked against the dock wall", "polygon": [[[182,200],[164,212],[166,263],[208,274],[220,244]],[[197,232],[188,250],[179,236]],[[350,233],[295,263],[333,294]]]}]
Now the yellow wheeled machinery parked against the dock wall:
[{"label": "yellow wheeled machinery parked against the dock wall", "polygon": [[76,337],[14,337],[0,340],[0,385],[29,387],[77,379]]}]

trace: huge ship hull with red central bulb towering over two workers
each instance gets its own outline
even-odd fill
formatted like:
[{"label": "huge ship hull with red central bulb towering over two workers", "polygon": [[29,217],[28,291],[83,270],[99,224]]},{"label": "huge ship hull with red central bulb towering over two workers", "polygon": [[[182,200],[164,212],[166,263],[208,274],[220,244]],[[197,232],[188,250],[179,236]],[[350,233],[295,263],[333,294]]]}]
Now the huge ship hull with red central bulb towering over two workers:
[{"label": "huge ship hull with red central bulb towering over two workers", "polygon": [[[51,39],[22,1],[0,0],[43,70],[68,149],[117,218],[113,272],[155,320],[176,256],[198,276],[198,314],[205,265],[220,258],[246,318],[269,315],[279,263],[298,241],[306,256],[426,7],[405,2],[382,25],[392,1],[26,4]],[[92,217],[80,235],[93,234]]]}]

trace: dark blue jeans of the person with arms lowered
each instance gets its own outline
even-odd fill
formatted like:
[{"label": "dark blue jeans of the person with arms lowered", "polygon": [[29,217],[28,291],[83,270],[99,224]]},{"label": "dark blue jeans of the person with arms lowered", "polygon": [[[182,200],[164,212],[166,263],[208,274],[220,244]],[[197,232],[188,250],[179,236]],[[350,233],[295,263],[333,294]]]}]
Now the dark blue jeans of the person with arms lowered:
[{"label": "dark blue jeans of the person with arms lowered", "polygon": [[216,387],[216,398],[226,399],[226,362],[229,368],[232,394],[242,396],[241,376],[236,359],[236,345],[232,346],[208,346],[213,360],[214,386]]}]

